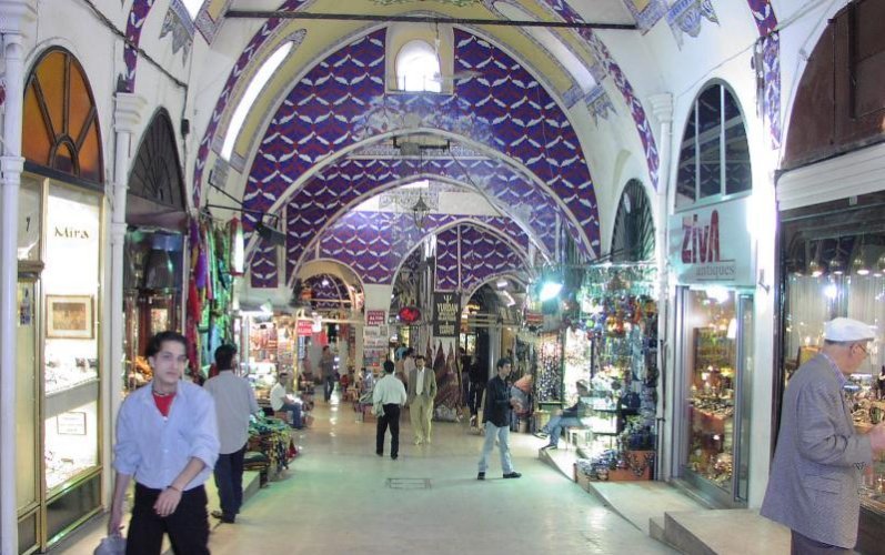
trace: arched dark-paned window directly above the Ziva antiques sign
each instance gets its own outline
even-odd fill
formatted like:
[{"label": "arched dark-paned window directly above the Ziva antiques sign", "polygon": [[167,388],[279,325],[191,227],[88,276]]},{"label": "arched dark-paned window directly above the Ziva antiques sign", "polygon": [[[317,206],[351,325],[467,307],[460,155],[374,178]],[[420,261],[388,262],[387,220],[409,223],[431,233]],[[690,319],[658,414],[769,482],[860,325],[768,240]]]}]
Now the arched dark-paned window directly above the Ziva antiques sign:
[{"label": "arched dark-paned window directly above the Ziva antiques sign", "polygon": [[676,208],[750,191],[750,148],[741,109],[724,84],[697,97],[683,134]]}]

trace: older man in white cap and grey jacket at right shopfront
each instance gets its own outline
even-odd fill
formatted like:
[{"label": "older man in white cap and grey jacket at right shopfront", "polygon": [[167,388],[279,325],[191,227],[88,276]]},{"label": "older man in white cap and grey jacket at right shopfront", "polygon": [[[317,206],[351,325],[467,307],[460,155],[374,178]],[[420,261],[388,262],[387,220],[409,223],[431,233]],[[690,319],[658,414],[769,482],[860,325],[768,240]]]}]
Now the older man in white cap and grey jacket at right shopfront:
[{"label": "older man in white cap and grey jacket at right shopfront", "polygon": [[843,387],[868,356],[873,330],[837,317],[821,353],[796,371],[784,394],[781,432],[762,515],[793,531],[794,555],[853,553],[862,473],[885,450],[885,423],[855,431]]}]

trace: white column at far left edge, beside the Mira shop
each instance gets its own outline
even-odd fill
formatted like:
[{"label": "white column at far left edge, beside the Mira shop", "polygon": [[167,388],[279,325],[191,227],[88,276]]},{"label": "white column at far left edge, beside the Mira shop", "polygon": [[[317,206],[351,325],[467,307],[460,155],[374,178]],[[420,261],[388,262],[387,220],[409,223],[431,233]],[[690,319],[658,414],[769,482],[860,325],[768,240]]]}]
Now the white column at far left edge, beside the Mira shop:
[{"label": "white column at far left edge, beside the Mira shop", "polygon": [[0,553],[18,553],[16,507],[16,316],[18,289],[19,190],[24,159],[21,125],[24,109],[24,27],[37,18],[30,0],[0,1],[0,33],[6,63],[3,111],[2,231],[0,231]]}]

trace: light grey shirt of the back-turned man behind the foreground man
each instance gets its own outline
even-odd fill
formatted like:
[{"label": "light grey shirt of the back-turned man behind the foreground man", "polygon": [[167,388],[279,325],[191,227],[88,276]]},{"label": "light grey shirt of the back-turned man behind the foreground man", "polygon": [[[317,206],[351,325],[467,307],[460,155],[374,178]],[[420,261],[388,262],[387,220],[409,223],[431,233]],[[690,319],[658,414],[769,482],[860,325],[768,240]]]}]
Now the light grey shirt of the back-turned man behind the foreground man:
[{"label": "light grey shirt of the back-turned man behind the foreground man", "polygon": [[249,415],[260,411],[255,392],[249,382],[228,370],[219,372],[203,387],[215,400],[220,453],[240,451],[249,440]]}]

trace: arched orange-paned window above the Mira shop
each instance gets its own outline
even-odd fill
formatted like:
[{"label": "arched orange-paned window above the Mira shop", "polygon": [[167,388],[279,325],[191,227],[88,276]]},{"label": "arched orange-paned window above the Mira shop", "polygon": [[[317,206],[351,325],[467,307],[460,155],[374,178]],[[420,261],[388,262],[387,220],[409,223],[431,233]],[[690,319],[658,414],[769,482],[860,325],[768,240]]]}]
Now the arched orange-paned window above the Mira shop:
[{"label": "arched orange-paned window above the Mira shop", "polygon": [[24,89],[22,154],[28,162],[102,182],[101,138],[92,91],[80,63],[52,49]]}]

